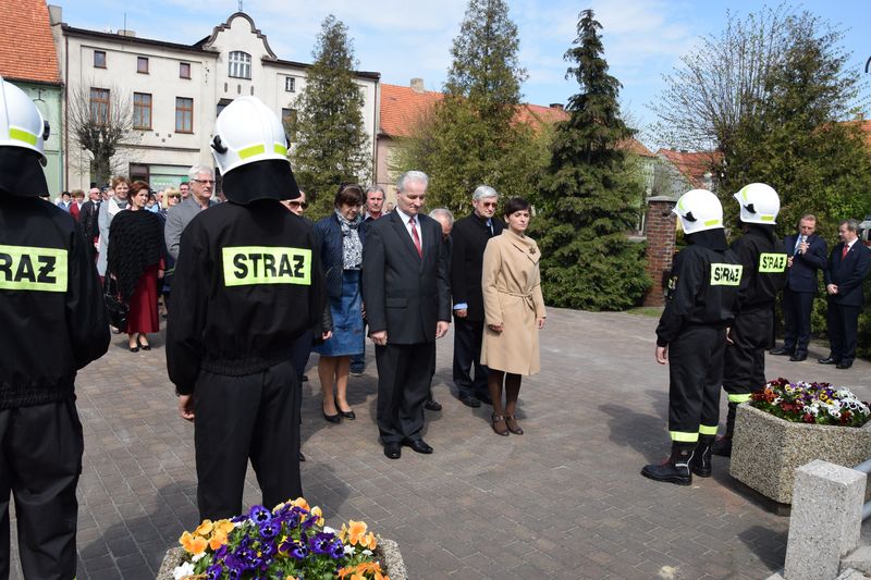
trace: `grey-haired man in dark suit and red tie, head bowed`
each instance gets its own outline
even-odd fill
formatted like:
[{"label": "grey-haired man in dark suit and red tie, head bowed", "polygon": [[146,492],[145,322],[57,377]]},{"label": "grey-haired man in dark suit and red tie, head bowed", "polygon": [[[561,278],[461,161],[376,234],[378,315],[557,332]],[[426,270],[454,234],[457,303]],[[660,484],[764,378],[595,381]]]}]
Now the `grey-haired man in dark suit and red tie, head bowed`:
[{"label": "grey-haired man in dark suit and red tie, head bowed", "polygon": [[363,258],[363,297],[378,366],[378,430],[384,455],[402,445],[432,453],[420,436],[436,338],[447,332],[447,255],[439,222],[420,213],[429,177],[404,173],[396,210],[371,222]]}]

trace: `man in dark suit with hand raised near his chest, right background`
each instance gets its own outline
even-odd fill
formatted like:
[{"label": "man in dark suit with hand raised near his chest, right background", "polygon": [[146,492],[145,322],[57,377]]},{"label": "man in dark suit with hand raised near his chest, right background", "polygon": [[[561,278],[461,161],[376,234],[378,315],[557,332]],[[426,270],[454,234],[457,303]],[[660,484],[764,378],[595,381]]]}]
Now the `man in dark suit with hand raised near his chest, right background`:
[{"label": "man in dark suit with hand raised near his chest, right background", "polygon": [[817,218],[808,213],[798,221],[798,233],[786,236],[783,242],[788,256],[783,289],[784,341],[783,346],[771,354],[789,356],[793,361],[808,358],[817,270],[825,268],[827,248],[815,231]]}]

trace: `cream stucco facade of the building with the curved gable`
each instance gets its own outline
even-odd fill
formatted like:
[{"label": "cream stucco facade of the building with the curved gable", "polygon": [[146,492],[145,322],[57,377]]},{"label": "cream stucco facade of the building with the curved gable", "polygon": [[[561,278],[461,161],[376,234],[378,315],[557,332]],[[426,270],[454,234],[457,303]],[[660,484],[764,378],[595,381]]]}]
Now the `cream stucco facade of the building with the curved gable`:
[{"label": "cream stucco facade of the building with the curved gable", "polygon": [[[120,91],[133,99],[148,96],[149,123],[139,125],[124,143],[119,159],[126,173],[143,177],[154,189],[177,185],[195,163],[213,165],[209,143],[218,112],[234,98],[254,95],[279,115],[293,114],[295,99],[305,90],[308,64],[279,59],[266,36],[247,14],[237,12],[196,45],[180,45],[131,36],[73,28],[52,8],[52,30],[61,77],[68,90],[64,107],[76,87]],[[95,55],[96,53],[96,55]],[[145,59],[145,60],[144,60]],[[379,74],[357,73],[366,94],[364,119],[375,159]],[[87,187],[89,153],[66,134],[68,187]],[[122,170],[123,171],[123,170]]]}]

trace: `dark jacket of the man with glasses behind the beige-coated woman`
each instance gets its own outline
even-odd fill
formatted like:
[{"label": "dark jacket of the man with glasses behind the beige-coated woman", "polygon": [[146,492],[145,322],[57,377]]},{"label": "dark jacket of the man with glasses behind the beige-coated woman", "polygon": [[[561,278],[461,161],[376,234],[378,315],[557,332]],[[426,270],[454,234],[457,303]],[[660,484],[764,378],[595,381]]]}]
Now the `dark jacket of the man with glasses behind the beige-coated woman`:
[{"label": "dark jacket of the man with glasses behind the beige-coated woman", "polygon": [[457,220],[451,231],[453,250],[451,252],[451,294],[454,304],[468,305],[467,320],[483,321],[483,294],[481,293],[481,270],[483,249],[491,237],[498,236],[505,224],[492,219],[493,233],[475,213]]}]

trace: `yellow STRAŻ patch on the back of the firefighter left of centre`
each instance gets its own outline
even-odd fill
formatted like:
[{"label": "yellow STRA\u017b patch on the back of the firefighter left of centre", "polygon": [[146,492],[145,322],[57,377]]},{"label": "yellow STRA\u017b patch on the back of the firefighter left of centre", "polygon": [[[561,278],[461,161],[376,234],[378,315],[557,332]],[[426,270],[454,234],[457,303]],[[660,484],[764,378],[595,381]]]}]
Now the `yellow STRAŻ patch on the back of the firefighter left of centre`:
[{"label": "yellow STRA\u017b patch on the back of the firefighter left of centre", "polygon": [[311,285],[311,250],[270,246],[222,248],[225,286]]}]

